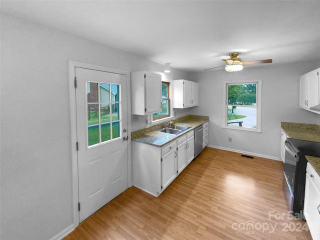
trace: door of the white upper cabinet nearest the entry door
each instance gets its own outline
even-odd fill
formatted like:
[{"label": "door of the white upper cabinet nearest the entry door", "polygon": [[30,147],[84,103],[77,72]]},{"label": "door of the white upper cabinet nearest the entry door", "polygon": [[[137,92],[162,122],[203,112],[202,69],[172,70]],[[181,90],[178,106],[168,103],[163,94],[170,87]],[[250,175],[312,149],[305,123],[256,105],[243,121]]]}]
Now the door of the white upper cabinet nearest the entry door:
[{"label": "door of the white upper cabinet nearest the entry door", "polygon": [[161,112],[161,75],[150,72],[145,74],[144,94],[145,113]]}]

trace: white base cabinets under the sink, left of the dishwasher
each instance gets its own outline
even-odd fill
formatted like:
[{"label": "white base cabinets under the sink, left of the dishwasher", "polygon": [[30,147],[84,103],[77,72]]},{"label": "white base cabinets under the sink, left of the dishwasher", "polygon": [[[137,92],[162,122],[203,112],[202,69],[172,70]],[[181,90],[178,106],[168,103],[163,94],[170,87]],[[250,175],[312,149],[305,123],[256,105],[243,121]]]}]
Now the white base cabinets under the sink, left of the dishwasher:
[{"label": "white base cabinets under the sink, left of the dishwasher", "polygon": [[131,143],[133,185],[153,196],[160,195],[194,157],[193,130],[162,147]]}]

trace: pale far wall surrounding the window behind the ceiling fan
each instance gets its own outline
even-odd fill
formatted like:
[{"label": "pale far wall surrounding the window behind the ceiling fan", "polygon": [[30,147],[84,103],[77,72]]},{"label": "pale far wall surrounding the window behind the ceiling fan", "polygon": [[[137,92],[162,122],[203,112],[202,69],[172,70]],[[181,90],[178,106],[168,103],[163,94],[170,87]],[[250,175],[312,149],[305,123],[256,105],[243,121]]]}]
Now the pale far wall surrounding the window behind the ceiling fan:
[{"label": "pale far wall surrounding the window behind the ceiling fan", "polygon": [[[192,74],[199,82],[199,107],[194,114],[208,115],[209,145],[280,159],[280,122],[320,124],[320,115],[303,110],[299,105],[299,75],[320,66],[320,62],[296,64],[261,64],[244,67],[239,72],[219,70]],[[261,133],[222,128],[224,99],[223,81],[262,79]],[[232,142],[228,142],[232,137]]]}]

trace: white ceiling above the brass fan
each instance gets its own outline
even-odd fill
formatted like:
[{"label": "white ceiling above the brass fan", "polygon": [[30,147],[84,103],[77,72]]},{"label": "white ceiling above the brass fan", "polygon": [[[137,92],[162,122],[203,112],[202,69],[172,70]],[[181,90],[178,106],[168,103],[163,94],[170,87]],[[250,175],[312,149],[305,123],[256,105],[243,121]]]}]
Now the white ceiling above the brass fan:
[{"label": "white ceiling above the brass fan", "polygon": [[318,0],[1,0],[0,7],[189,72],[223,65],[234,51],[243,61],[272,58],[268,64],[320,61]]}]

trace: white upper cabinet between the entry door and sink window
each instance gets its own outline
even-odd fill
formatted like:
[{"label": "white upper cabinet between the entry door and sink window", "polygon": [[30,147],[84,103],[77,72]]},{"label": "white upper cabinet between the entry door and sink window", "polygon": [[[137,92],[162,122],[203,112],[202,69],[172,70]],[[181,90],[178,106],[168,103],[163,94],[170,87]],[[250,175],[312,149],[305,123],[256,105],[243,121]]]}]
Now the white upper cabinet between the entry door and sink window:
[{"label": "white upper cabinet between the entry door and sink window", "polygon": [[162,111],[161,75],[131,72],[131,113],[148,115]]}]

